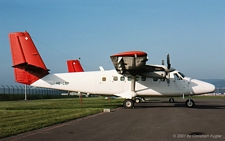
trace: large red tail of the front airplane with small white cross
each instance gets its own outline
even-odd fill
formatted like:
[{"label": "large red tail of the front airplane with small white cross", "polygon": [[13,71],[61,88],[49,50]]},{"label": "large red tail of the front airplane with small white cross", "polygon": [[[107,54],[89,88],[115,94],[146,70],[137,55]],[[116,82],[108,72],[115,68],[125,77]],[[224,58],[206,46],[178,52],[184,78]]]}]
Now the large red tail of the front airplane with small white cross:
[{"label": "large red tail of the front airplane with small white cross", "polygon": [[9,34],[15,81],[32,84],[49,74],[28,32]]}]

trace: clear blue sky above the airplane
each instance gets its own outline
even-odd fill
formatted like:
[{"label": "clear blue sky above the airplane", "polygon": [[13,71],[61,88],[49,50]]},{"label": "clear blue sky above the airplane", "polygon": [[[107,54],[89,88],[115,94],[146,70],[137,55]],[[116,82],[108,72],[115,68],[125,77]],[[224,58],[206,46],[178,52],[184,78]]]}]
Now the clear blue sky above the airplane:
[{"label": "clear blue sky above the airplane", "polygon": [[10,32],[30,33],[50,73],[81,58],[85,71],[114,69],[110,55],[139,50],[148,64],[170,54],[197,79],[225,79],[224,0],[0,1],[0,85],[13,84]]}]

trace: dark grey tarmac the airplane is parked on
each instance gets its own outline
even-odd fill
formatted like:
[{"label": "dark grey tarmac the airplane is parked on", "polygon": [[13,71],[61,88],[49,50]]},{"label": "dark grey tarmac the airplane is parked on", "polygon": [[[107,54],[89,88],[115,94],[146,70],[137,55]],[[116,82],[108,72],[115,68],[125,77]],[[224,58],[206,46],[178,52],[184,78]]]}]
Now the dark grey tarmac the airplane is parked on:
[{"label": "dark grey tarmac the airplane is parked on", "polygon": [[225,140],[225,99],[158,99],[22,133],[1,141]]}]

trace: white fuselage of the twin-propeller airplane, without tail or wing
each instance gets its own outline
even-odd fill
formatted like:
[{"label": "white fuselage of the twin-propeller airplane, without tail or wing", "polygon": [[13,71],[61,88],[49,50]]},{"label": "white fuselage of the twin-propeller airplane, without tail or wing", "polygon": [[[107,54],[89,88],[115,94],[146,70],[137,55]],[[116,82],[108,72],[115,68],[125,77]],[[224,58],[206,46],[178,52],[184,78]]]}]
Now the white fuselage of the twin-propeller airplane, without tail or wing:
[{"label": "white fuselage of the twin-propeller airplane, without tail or wing", "polygon": [[49,74],[31,86],[99,95],[116,95],[124,98],[193,95],[210,93],[215,90],[214,85],[182,77],[178,71],[170,72],[169,82],[168,79],[137,76],[133,94],[131,79],[118,74],[115,70]]}]

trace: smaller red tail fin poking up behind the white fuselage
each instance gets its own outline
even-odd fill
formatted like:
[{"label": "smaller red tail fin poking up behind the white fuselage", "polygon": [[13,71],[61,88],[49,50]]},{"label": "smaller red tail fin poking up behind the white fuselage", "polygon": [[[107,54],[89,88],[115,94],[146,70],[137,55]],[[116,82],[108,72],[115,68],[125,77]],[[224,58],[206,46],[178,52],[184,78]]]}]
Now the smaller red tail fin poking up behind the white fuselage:
[{"label": "smaller red tail fin poking up behind the white fuselage", "polygon": [[83,68],[79,60],[68,60],[67,61],[68,72],[83,72]]}]

